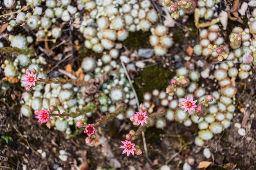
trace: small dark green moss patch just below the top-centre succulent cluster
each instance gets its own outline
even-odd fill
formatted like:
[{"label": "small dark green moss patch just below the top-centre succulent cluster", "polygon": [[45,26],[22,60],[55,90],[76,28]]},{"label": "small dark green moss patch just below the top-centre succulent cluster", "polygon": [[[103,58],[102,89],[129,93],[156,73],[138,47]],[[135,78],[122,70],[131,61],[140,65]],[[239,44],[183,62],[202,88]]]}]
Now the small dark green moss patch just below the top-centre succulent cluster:
[{"label": "small dark green moss patch just below the top-centre succulent cluster", "polygon": [[136,31],[133,33],[129,33],[129,37],[121,43],[130,49],[151,48],[149,44],[150,35],[150,31]]}]

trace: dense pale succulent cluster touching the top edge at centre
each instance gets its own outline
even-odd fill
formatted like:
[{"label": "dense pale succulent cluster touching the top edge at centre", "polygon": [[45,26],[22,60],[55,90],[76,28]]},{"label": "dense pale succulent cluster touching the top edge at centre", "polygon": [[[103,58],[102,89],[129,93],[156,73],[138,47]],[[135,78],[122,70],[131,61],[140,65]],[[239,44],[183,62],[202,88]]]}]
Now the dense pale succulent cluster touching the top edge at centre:
[{"label": "dense pale succulent cluster touching the top edge at centre", "polygon": [[[85,37],[85,47],[97,53],[111,50],[115,41],[124,41],[129,32],[149,31],[158,20],[157,11],[149,0],[81,1],[89,12],[79,31]],[[88,19],[90,18],[90,19]]]}]

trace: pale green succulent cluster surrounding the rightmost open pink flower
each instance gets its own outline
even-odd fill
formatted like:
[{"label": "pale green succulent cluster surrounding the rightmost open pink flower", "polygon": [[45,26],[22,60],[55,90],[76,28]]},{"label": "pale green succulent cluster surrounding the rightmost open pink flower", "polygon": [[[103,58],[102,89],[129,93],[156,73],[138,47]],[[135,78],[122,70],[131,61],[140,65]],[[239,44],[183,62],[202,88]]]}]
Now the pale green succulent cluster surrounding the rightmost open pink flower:
[{"label": "pale green succulent cluster surrounding the rightmost open pink flower", "polygon": [[[145,93],[144,105],[146,107],[150,108],[153,104],[159,104],[156,111],[159,116],[155,117],[155,120],[150,121],[150,123],[157,128],[164,128],[166,120],[178,121],[184,126],[191,126],[192,123],[198,124],[200,130],[194,141],[198,146],[202,146],[204,141],[211,139],[214,134],[221,133],[222,130],[228,128],[236,109],[234,106],[236,88],[231,84],[232,75],[228,73],[229,66],[227,65],[226,68],[224,65],[226,66],[227,64],[222,63],[220,66],[216,66],[216,70],[213,73],[215,81],[218,82],[220,88],[216,88],[216,91],[209,94],[207,94],[207,88],[204,87],[204,84],[200,86],[198,83],[200,73],[189,71],[185,67],[176,70],[176,77],[183,75],[188,83],[178,87],[174,96],[169,96],[166,92],[157,89],[152,93]],[[209,106],[203,109],[202,117],[197,116],[193,111],[189,115],[178,107],[178,104],[183,102],[182,98],[185,96],[193,97],[200,102],[206,95],[212,95],[213,101],[209,102]],[[153,102],[157,100],[158,102]]]}]

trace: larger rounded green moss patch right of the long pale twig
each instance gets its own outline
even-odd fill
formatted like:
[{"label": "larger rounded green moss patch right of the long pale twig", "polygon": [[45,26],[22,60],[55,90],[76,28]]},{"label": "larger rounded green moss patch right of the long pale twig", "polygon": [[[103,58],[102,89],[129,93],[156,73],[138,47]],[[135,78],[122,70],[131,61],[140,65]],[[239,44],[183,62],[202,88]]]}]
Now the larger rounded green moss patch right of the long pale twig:
[{"label": "larger rounded green moss patch right of the long pale twig", "polygon": [[139,98],[139,102],[143,102],[143,94],[152,92],[154,89],[165,90],[169,81],[175,73],[160,66],[150,66],[144,68],[137,77],[135,77],[135,91]]}]

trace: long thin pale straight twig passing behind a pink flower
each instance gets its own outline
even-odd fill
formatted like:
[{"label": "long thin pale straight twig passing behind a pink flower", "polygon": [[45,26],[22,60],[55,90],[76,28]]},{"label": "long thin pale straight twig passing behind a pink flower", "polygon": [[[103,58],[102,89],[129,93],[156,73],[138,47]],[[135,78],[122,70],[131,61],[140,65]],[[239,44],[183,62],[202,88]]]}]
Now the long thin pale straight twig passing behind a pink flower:
[{"label": "long thin pale straight twig passing behind a pink flower", "polygon": [[[127,69],[126,69],[125,64],[124,64],[123,62],[121,62],[121,64],[122,64],[122,66],[123,66],[123,68],[124,68],[124,72],[125,72],[125,74],[126,74],[126,77],[127,77],[128,81],[129,81],[129,83],[130,83],[130,85],[131,85],[132,92],[134,93],[135,100],[136,100],[136,103],[137,103],[137,108],[139,109],[139,99],[138,99],[137,93],[136,93],[136,91],[135,91],[135,88],[133,87],[132,81],[131,81],[130,76],[129,76],[128,72],[127,72]],[[142,131],[141,134],[142,134],[142,141],[143,141],[143,146],[144,146],[144,150],[145,150],[146,159],[147,159],[150,163],[152,163],[152,161],[151,161],[151,160],[149,159],[149,157],[148,157],[148,148],[147,148],[147,144],[146,144],[146,138],[145,138],[145,133],[144,133],[144,131]]]}]

